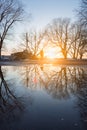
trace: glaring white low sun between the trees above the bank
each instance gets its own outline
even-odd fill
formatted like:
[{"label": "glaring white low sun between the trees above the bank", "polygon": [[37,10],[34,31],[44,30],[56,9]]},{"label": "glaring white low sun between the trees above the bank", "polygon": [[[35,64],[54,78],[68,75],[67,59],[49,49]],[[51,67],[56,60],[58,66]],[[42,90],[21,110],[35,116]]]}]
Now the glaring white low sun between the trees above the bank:
[{"label": "glaring white low sun between the trees above the bank", "polygon": [[56,58],[57,54],[56,54],[56,51],[55,51],[55,48],[48,48],[45,52],[45,56],[47,58]]}]

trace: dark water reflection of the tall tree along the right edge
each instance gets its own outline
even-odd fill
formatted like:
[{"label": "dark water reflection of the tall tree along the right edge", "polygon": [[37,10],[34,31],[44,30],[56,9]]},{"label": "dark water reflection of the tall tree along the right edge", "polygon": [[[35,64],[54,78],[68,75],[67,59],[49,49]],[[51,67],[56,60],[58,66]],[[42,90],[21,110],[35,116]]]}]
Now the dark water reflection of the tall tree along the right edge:
[{"label": "dark water reflection of the tall tree along the right edge", "polygon": [[81,119],[85,123],[87,128],[87,71],[79,69],[77,79],[77,92],[78,107],[81,114]]}]

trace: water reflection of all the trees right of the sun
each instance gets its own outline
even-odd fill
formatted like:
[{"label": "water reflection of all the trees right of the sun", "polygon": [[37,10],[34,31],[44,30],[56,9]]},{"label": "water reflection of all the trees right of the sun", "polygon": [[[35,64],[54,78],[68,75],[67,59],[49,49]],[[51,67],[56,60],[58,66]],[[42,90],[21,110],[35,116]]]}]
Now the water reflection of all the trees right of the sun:
[{"label": "water reflection of all the trees right of the sun", "polygon": [[[46,90],[53,97],[68,98],[71,94],[77,97],[77,107],[80,110],[81,119],[87,128],[87,68],[62,67],[60,71],[51,76]],[[53,79],[53,80],[52,80]]]}]

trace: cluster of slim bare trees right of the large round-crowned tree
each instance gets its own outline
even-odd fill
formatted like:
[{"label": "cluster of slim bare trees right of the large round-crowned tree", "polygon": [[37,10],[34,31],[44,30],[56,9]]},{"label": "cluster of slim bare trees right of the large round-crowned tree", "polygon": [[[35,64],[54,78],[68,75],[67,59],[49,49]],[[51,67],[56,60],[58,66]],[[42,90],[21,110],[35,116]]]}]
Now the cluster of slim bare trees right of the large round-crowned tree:
[{"label": "cluster of slim bare trees right of the large round-crowned tree", "polygon": [[71,41],[71,57],[82,59],[87,52],[87,31],[79,22],[71,26]]}]

